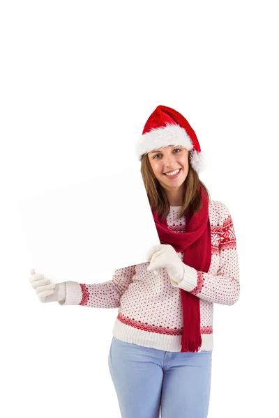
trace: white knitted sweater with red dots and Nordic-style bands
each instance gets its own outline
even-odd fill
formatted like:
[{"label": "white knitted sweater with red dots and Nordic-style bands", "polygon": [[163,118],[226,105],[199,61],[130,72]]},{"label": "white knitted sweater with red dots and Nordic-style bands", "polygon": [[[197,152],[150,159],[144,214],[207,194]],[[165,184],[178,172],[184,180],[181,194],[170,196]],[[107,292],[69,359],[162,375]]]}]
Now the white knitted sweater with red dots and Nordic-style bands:
[{"label": "white knitted sweater with red dots and Nordic-style bands", "polygon": [[[181,206],[171,206],[169,229],[185,231],[185,217],[177,220]],[[147,271],[149,262],[114,272],[112,280],[100,284],[66,281],[66,301],[95,308],[118,308],[113,336],[127,343],[165,351],[181,351],[183,314],[180,288],[199,297],[201,350],[213,350],[213,303],[232,305],[239,299],[239,263],[236,236],[228,208],[219,201],[209,203],[211,265],[204,273],[191,269],[177,284],[165,269],[160,275]],[[147,249],[146,249],[147,251]],[[183,251],[177,253],[183,260]]]}]

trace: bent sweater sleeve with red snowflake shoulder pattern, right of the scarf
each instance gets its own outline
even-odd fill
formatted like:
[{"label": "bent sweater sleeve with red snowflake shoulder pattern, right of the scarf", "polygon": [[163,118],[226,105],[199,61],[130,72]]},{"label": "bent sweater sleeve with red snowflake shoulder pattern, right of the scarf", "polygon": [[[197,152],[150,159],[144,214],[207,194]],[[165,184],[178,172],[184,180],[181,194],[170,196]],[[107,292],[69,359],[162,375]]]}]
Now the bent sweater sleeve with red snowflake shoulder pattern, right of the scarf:
[{"label": "bent sweater sleeve with red snowflake shoulder pattern, right of the scarf", "polygon": [[239,261],[236,249],[234,224],[228,208],[223,204],[223,224],[219,242],[220,264],[217,274],[209,274],[184,265],[185,272],[180,283],[182,288],[208,302],[232,305],[239,299]]}]

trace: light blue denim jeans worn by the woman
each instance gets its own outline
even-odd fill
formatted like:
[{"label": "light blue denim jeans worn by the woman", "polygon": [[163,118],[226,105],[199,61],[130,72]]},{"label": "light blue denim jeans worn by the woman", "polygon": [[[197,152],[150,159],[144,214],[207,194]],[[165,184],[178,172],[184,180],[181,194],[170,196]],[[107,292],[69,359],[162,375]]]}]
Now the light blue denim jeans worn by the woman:
[{"label": "light blue denim jeans worn by the woman", "polygon": [[181,353],[113,337],[108,364],[122,418],[206,418],[212,351]]}]

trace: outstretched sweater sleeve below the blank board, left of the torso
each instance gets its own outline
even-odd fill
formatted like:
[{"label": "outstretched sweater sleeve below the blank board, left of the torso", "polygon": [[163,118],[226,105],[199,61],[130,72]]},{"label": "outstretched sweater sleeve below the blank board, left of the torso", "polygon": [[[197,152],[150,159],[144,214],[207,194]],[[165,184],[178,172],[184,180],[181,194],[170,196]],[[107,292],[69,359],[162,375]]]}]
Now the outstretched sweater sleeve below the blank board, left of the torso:
[{"label": "outstretched sweater sleeve below the blank board, left of the torso", "polygon": [[61,305],[83,305],[91,308],[117,308],[123,293],[133,281],[135,265],[116,269],[112,280],[100,284],[66,281],[66,300]]}]

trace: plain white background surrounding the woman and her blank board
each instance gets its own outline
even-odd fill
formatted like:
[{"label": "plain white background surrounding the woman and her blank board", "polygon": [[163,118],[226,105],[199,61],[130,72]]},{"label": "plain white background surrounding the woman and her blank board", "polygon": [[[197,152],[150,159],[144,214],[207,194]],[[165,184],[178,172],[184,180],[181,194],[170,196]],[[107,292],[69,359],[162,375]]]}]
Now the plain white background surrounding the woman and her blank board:
[{"label": "plain white background surrounding the woman and her blank board", "polygon": [[15,202],[136,164],[158,104],[193,126],[200,178],[236,230],[241,296],[214,305],[209,418],[276,415],[276,3],[1,2],[1,416],[121,417],[107,366],[117,311],[38,301]]}]

